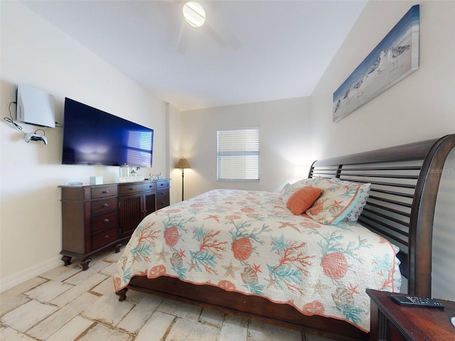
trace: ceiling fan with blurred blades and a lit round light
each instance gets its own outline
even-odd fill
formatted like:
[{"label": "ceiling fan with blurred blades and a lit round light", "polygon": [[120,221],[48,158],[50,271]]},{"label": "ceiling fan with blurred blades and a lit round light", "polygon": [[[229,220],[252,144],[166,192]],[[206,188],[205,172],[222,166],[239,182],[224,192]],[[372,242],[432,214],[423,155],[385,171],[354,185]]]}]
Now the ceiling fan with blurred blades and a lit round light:
[{"label": "ceiling fan with blurred blades and a lit round light", "polygon": [[228,46],[232,50],[240,48],[240,41],[225,26],[218,15],[221,4],[205,1],[203,5],[196,1],[176,1],[181,15],[181,28],[178,36],[177,52],[185,54],[191,41],[193,30],[205,30],[218,45]]}]

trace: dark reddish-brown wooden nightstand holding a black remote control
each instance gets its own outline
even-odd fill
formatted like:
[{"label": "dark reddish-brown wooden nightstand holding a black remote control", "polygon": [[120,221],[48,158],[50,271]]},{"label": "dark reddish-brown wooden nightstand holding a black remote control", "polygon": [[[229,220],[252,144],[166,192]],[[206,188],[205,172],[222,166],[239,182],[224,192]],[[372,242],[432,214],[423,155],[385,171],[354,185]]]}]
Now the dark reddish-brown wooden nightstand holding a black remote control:
[{"label": "dark reddish-brown wooden nightstand holding a black remote control", "polygon": [[455,316],[455,302],[437,300],[444,309],[404,307],[392,301],[392,293],[371,289],[366,292],[371,298],[370,341],[455,340],[455,327],[450,323]]}]

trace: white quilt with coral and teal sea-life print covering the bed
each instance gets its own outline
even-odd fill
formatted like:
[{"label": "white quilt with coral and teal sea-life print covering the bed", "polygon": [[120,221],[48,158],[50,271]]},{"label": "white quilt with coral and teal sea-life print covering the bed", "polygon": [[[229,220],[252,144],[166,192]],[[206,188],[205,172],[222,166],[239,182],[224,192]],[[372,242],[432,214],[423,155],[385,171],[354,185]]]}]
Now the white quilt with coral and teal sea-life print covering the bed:
[{"label": "white quilt with coral and teal sea-life print covering the bed", "polygon": [[[366,288],[397,291],[395,247],[360,224],[293,215],[279,193],[212,190],[148,215],[114,275],[171,276],[370,329]],[[399,274],[398,274],[399,275]]]}]

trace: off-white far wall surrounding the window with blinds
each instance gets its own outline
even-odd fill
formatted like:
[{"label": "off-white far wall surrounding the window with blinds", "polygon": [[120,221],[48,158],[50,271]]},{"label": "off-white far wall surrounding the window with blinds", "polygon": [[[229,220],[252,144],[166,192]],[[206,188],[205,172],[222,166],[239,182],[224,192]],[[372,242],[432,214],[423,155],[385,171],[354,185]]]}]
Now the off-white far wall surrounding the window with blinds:
[{"label": "off-white far wall surrounding the window with blinds", "polygon": [[[311,147],[309,97],[182,114],[182,151],[191,169],[185,171],[185,198],[213,188],[279,190],[284,180],[296,180],[294,168],[309,168],[316,157]],[[259,126],[259,182],[217,182],[216,132]]]}]

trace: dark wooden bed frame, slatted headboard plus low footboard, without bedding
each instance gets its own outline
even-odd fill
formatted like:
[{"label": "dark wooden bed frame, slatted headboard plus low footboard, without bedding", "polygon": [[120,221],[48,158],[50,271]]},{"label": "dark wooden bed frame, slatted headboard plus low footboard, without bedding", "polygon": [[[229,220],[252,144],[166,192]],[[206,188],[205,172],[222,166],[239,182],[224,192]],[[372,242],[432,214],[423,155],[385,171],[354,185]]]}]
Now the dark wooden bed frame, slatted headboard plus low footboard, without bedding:
[{"label": "dark wooden bed frame, slatted headboard plus low footboard, without bedding", "polygon": [[[408,278],[408,292],[412,295],[431,296],[434,209],[441,170],[453,148],[455,134],[315,161],[309,173],[310,178],[338,177],[372,183],[359,222],[400,248],[402,274]],[[291,305],[215,286],[195,285],[166,276],[155,279],[137,276],[128,288],[338,340],[368,339],[368,333],[342,320],[303,315]],[[125,289],[117,293],[120,300],[125,299],[125,293]]]}]

